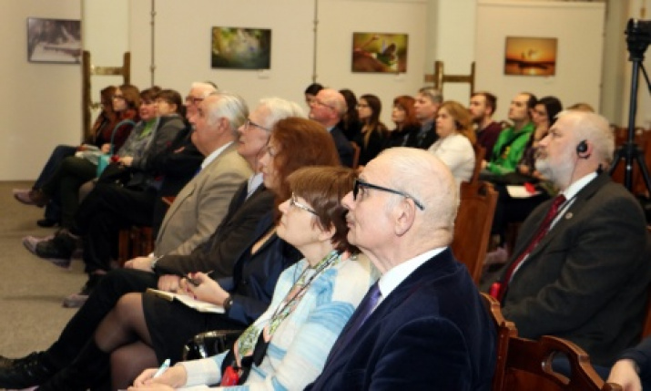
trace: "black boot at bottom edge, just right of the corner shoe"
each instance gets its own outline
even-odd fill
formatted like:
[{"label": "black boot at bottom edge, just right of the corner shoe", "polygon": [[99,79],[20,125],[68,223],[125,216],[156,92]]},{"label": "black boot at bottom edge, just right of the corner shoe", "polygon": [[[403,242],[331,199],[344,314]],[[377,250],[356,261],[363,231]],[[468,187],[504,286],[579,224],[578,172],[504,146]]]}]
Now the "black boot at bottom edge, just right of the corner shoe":
[{"label": "black boot at bottom edge, just right of the corner shoe", "polygon": [[94,338],[91,338],[70,365],[57,372],[55,376],[36,389],[40,391],[85,391],[88,388],[93,388],[97,386],[98,382],[107,379],[108,359],[109,355],[97,346]]}]

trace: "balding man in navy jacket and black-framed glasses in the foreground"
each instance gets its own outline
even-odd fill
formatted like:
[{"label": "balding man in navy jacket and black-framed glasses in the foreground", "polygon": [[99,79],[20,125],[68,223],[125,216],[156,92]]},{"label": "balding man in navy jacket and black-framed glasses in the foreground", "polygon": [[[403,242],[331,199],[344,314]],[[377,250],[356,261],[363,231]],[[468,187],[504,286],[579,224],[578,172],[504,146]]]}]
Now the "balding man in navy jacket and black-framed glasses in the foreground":
[{"label": "balding man in navy jacket and black-framed glasses in the foreground", "polygon": [[380,271],[312,390],[488,390],[495,331],[448,247],[459,204],[432,154],[384,150],[344,198],[348,240]]}]

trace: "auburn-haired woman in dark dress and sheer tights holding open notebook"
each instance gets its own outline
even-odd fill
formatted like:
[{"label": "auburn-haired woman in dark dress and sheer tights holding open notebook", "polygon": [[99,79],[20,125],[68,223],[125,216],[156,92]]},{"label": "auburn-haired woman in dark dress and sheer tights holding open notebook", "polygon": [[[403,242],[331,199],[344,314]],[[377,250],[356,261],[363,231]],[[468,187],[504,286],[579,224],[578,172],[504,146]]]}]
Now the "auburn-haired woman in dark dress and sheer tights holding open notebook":
[{"label": "auburn-haired woman in dark dress and sheer tights holding open notebook", "polygon": [[[340,164],[328,131],[304,118],[278,121],[259,163],[265,187],[276,195],[276,205],[290,199],[290,173],[305,166]],[[214,282],[205,274],[198,277],[201,292],[210,284],[215,293],[210,301],[224,305],[225,314],[198,313],[154,294],[127,293],[97,326],[95,337],[70,365],[48,376],[43,389],[95,385],[107,370],[109,355],[113,387],[125,388],[143,369],[166,358],[173,363],[180,360],[183,345],[195,334],[246,328],[269,306],[280,273],[300,259],[300,253],[279,238],[279,220],[273,210],[260,219],[253,239],[234,263],[232,278]],[[209,298],[194,294],[203,300]]]}]

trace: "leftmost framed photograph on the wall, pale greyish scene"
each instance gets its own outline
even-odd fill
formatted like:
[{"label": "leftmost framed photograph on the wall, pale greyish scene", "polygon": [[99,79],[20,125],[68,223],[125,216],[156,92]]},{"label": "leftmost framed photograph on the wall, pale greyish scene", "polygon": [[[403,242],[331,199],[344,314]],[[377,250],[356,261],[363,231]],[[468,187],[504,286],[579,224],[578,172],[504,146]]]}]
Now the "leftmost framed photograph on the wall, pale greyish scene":
[{"label": "leftmost framed photograph on the wall, pale greyish scene", "polygon": [[81,21],[28,17],[27,61],[78,64],[81,61]]}]

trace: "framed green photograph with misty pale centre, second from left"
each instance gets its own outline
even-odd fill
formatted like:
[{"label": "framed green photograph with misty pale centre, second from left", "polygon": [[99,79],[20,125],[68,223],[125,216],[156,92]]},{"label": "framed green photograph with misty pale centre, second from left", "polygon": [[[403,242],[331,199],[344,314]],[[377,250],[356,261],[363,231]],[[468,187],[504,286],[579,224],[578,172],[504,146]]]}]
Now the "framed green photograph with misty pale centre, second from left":
[{"label": "framed green photograph with misty pale centre, second from left", "polygon": [[212,27],[211,66],[229,69],[270,69],[271,30]]}]

